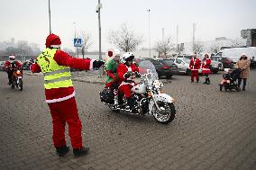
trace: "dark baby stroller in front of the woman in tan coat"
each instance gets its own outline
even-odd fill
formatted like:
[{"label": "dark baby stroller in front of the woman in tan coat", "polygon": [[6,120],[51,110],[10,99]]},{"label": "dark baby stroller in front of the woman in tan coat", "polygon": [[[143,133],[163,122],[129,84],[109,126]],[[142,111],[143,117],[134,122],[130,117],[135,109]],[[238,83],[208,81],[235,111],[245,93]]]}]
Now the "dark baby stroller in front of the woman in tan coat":
[{"label": "dark baby stroller in front of the woman in tan coat", "polygon": [[241,68],[236,68],[232,72],[230,72],[229,68],[225,68],[225,73],[223,75],[223,80],[220,83],[220,91],[233,90],[240,91],[241,89],[238,87],[236,80],[239,78],[242,70]]}]

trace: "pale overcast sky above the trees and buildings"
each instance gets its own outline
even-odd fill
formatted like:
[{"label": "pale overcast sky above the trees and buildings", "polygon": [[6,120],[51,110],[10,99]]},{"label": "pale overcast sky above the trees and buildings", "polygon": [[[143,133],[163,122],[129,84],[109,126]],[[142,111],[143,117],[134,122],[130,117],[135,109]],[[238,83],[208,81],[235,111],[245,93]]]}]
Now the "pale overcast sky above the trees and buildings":
[{"label": "pale overcast sky above the trees and buildings", "polygon": [[[27,40],[44,48],[49,34],[48,0],[0,0],[0,41]],[[107,37],[123,22],[143,36],[141,47],[149,47],[151,9],[151,47],[162,37],[176,43],[192,41],[193,22],[196,40],[215,37],[241,38],[242,29],[256,28],[256,0],[101,0],[102,49],[113,48]],[[73,48],[77,31],[86,31],[93,40],[90,50],[98,49],[97,0],[50,0],[51,29],[59,35],[63,48]]]}]

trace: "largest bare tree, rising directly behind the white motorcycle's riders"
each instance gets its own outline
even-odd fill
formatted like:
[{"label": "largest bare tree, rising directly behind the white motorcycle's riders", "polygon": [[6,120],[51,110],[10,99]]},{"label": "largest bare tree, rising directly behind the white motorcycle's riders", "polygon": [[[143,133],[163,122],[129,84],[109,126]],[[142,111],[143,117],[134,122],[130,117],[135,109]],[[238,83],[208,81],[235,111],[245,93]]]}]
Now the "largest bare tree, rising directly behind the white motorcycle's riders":
[{"label": "largest bare tree, rising directly behind the white motorcycle's riders", "polygon": [[110,31],[109,42],[125,52],[133,51],[142,43],[142,35],[136,35],[125,23],[120,30]]}]

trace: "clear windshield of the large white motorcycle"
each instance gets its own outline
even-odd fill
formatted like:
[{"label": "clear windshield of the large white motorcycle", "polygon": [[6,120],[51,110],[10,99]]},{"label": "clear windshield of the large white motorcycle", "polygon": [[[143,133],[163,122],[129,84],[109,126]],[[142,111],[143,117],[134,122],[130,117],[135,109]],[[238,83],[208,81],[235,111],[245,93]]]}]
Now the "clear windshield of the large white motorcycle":
[{"label": "clear windshield of the large white motorcycle", "polygon": [[151,85],[155,80],[159,79],[156,68],[150,60],[142,60],[139,64],[139,72],[146,85]]}]

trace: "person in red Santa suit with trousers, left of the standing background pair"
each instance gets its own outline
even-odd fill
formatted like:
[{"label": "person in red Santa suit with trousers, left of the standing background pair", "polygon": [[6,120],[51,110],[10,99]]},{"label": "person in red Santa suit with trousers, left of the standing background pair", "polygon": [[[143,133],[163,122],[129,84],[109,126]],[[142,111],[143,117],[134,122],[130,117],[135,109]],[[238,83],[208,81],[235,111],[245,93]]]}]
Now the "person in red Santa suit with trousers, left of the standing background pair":
[{"label": "person in red Santa suit with trousers, left of the standing background pair", "polygon": [[201,61],[197,55],[193,55],[190,59],[189,68],[191,70],[191,82],[194,82],[194,77],[196,76],[197,83],[199,82],[198,69],[201,67]]}]

